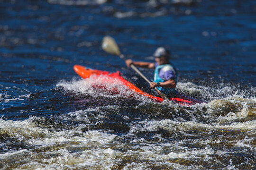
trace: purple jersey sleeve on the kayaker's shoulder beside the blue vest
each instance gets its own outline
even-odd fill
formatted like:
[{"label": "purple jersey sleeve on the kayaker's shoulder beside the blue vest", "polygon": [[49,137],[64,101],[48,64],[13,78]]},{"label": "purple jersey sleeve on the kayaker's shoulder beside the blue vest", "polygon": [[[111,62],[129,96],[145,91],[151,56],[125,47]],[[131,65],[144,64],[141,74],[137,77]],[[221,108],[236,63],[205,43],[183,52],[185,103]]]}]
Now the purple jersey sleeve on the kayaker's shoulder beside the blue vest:
[{"label": "purple jersey sleeve on the kayaker's shoulder beside the blue vest", "polygon": [[[172,65],[172,64],[171,64]],[[158,66],[158,63],[155,63],[155,68]],[[159,77],[163,79],[164,81],[174,79],[176,78],[176,69],[171,66],[166,66],[161,68],[159,71]]]}]

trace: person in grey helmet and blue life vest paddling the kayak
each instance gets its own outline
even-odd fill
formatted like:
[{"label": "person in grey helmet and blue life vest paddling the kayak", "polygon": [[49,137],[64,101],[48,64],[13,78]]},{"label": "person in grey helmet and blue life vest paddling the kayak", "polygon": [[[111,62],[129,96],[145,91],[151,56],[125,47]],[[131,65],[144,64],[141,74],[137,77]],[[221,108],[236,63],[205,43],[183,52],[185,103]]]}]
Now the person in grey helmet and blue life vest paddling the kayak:
[{"label": "person in grey helmet and blue life vest paddling the kayak", "polygon": [[177,70],[169,62],[170,52],[164,47],[158,47],[155,50],[154,57],[155,63],[133,61],[131,59],[127,59],[125,62],[128,67],[130,67],[131,64],[134,64],[141,68],[155,68],[154,82],[151,82],[150,87],[156,87],[165,94],[176,94]]}]

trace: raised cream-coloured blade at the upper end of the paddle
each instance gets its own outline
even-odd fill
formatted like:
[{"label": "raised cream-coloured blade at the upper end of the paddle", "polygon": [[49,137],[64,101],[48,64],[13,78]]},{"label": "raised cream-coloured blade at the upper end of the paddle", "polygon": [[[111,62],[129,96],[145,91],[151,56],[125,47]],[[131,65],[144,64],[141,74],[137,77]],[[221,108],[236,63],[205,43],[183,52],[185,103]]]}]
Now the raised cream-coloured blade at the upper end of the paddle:
[{"label": "raised cream-coloured blade at the upper end of the paddle", "polygon": [[114,54],[114,55],[121,54],[116,41],[110,36],[105,36],[103,38],[103,41],[101,43],[101,48],[110,54]]}]

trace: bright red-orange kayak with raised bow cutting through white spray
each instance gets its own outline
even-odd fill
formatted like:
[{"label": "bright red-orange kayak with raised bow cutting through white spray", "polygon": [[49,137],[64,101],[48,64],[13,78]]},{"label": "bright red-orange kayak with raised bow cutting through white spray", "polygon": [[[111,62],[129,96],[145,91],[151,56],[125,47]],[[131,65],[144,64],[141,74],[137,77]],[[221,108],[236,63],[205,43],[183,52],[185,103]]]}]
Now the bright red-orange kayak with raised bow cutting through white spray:
[{"label": "bright red-orange kayak with raised bow cutting through white spray", "polygon": [[[101,70],[86,68],[86,67],[80,66],[80,65],[75,65],[73,68],[74,68],[75,72],[79,76],[81,76],[82,78],[89,78],[90,76],[104,75],[104,76],[112,78],[112,80],[113,79],[118,79],[118,80],[120,80],[120,82],[122,82],[123,85],[126,85],[128,88],[130,88],[131,90],[135,91],[136,93],[144,95],[144,96],[146,96],[148,98],[151,98],[151,99],[153,99],[153,100],[155,100],[157,102],[163,102],[163,98],[156,97],[156,96],[154,96],[152,94],[143,92],[138,87],[136,87],[132,83],[128,82],[126,79],[124,79],[121,76],[121,73],[119,71],[117,71],[116,73],[111,73],[109,71],[101,71]],[[110,79],[106,79],[106,80],[110,80]],[[179,94],[179,96],[177,98],[170,98],[170,100],[172,100],[173,102],[182,104],[182,105],[187,105],[187,106],[191,106],[191,105],[194,105],[196,103],[202,103],[202,101],[193,99],[193,98],[185,96],[183,94]]]}]

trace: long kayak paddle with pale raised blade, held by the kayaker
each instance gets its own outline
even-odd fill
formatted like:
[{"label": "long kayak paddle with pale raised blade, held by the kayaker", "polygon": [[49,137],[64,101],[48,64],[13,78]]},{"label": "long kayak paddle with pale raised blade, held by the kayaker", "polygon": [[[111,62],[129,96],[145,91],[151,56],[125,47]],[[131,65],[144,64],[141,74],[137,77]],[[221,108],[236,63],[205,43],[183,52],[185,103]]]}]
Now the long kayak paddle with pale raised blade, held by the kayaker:
[{"label": "long kayak paddle with pale raised blade, held by the kayaker", "polygon": [[[110,53],[110,54],[114,54],[114,55],[118,55],[121,59],[123,59],[124,61],[126,60],[125,56],[123,54],[121,54],[121,52],[119,51],[119,47],[116,43],[116,41],[110,37],[110,36],[105,36],[103,38],[101,47],[104,51]],[[134,69],[140,76],[142,76],[142,78],[144,78],[144,80],[146,80],[147,83],[151,83],[146,76],[144,76],[136,67],[134,64],[131,64],[130,67],[132,69]],[[160,92],[160,90],[158,90],[157,88],[154,88],[159,94],[160,96],[164,99],[164,100],[169,100],[168,97]]]}]

